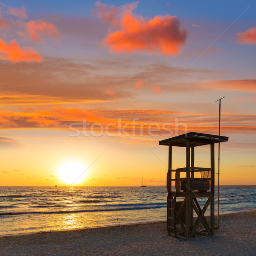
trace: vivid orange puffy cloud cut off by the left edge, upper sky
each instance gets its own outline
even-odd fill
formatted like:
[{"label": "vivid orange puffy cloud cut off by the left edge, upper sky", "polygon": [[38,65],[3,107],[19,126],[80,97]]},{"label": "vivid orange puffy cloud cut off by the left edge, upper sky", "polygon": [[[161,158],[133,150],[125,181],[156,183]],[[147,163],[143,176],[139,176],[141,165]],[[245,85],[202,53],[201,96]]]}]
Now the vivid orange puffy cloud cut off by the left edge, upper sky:
[{"label": "vivid orange puffy cloud cut off by the left edge, upper sky", "polygon": [[31,48],[28,50],[20,49],[19,45],[13,40],[10,44],[7,44],[0,39],[0,59],[9,60],[12,62],[20,61],[42,61],[40,55],[37,52],[32,51]]}]

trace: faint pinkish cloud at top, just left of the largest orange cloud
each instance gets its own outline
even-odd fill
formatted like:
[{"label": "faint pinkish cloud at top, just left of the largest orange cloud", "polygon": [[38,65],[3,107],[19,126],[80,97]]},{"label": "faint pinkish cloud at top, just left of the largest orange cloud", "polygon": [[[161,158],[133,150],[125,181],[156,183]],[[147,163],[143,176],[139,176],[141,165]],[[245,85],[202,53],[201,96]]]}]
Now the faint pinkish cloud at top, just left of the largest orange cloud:
[{"label": "faint pinkish cloud at top, just left of the largest orange cloud", "polygon": [[100,1],[95,3],[96,9],[91,9],[93,15],[98,16],[101,20],[108,22],[110,24],[116,24],[119,21],[117,20],[117,15],[119,10],[116,6],[107,7],[105,4]]}]

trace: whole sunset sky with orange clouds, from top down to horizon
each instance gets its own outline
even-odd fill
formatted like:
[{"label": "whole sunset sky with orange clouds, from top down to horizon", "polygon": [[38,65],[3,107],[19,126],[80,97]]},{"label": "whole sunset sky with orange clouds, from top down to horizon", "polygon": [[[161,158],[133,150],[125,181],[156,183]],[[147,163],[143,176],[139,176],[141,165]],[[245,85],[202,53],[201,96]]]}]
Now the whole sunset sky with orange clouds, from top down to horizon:
[{"label": "whole sunset sky with orange clouds, from top down to horizon", "polygon": [[[256,185],[255,13],[254,1],[2,1],[0,186],[67,186],[74,166],[76,186],[165,185],[158,141],[218,134],[224,96],[221,185]],[[195,154],[209,167],[209,147]]]}]

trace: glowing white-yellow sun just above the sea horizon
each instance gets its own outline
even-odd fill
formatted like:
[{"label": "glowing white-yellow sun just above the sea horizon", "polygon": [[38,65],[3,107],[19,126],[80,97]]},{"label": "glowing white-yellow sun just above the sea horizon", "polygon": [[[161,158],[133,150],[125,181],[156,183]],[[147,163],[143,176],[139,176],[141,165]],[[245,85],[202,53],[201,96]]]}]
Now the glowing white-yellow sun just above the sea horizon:
[{"label": "glowing white-yellow sun just above the sea horizon", "polygon": [[86,176],[87,170],[79,161],[66,161],[58,168],[58,177],[65,184],[81,183]]}]

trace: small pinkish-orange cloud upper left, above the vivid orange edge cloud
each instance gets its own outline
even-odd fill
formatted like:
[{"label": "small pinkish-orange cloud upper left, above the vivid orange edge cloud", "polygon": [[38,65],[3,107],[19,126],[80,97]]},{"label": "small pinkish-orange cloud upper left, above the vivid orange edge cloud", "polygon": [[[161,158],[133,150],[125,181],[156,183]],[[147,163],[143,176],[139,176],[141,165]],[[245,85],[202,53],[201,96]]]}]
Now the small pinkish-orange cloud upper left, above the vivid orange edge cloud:
[{"label": "small pinkish-orange cloud upper left, above the vivid orange edge cloud", "polygon": [[31,20],[26,23],[27,32],[30,35],[30,39],[36,42],[40,42],[41,37],[44,37],[45,35],[50,35],[51,37],[58,36],[57,29],[54,25],[51,23],[47,23],[42,20]]}]

